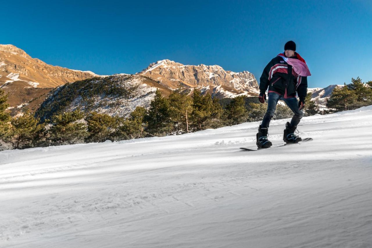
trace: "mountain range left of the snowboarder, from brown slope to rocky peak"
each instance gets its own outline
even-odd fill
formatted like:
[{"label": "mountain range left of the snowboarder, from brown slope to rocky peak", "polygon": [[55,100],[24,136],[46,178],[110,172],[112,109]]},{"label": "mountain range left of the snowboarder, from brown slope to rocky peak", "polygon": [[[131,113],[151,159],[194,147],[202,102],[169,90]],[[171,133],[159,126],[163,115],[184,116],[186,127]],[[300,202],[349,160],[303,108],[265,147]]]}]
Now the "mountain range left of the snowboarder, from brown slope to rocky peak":
[{"label": "mountain range left of the snowboarder, from brown slope to rocky peak", "polygon": [[[61,86],[90,78],[95,78],[93,81],[97,84],[112,80],[112,85],[116,86],[118,81],[122,82],[120,87],[126,87],[128,84],[136,85],[139,90],[133,92],[132,96],[115,96],[115,102],[118,104],[124,99],[129,101],[131,97],[147,94],[148,97],[145,98],[147,100],[132,99],[125,103],[126,107],[122,106],[122,110],[119,110],[118,107],[115,108],[116,110],[108,110],[110,108],[95,109],[112,115],[126,115],[136,105],[149,106],[156,89],[160,89],[164,96],[168,96],[171,90],[176,88],[182,88],[183,92],[189,94],[195,88],[198,88],[203,94],[209,93],[218,98],[239,95],[255,96],[259,93],[257,80],[253,74],[248,71],[241,73],[225,71],[218,65],[182,65],[164,59],[150,64],[146,69],[135,75],[101,76],[91,71],[78,71],[48,65],[40,59],[32,58],[16,46],[0,45],[0,87],[6,93],[9,93],[8,103],[12,115],[17,115],[22,107],[28,107],[32,111],[36,111],[45,100],[47,102],[44,106],[47,106],[51,104],[52,99],[58,98],[55,97],[62,92],[62,88],[71,87],[61,88]],[[76,96],[73,97],[79,99],[81,97],[79,94],[79,91],[76,91]],[[98,95],[97,97],[104,98]],[[127,99],[127,97],[129,98]],[[113,100],[110,99],[110,101]],[[66,108],[74,109],[73,104],[78,102],[78,100],[73,101],[70,103],[72,105],[66,106]],[[102,106],[103,102],[97,100],[96,103],[96,106]]]}]

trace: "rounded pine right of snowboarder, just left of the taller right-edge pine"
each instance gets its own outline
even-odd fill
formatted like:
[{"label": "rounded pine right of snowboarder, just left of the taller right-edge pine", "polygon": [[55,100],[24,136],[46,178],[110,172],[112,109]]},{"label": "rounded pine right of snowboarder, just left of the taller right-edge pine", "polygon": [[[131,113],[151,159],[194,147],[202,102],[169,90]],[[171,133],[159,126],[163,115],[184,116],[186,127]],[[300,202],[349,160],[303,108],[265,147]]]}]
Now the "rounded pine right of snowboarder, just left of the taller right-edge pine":
[{"label": "rounded pine right of snowboarder, just left of the taller right-edge pine", "polygon": [[334,111],[343,111],[352,109],[356,103],[356,94],[353,90],[344,84],[344,87],[335,87],[326,106]]}]

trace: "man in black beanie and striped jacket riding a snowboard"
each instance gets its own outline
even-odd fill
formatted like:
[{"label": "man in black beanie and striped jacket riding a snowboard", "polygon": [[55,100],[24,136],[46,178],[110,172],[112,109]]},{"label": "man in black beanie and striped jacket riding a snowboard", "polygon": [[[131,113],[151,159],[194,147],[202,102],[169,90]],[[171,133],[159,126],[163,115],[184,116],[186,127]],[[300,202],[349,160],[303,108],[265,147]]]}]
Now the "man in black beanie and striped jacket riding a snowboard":
[{"label": "man in black beanie and striped jacket riding a snowboard", "polygon": [[[307,94],[307,76],[310,75],[306,62],[296,52],[296,44],[293,41],[288,41],[284,45],[284,52],[266,65],[260,77],[259,101],[261,103],[266,100],[267,87],[269,87],[269,92],[267,111],[256,135],[258,148],[272,146],[267,138],[268,129],[279,100],[283,100],[294,113],[291,123],[287,122],[285,125],[283,141],[286,143],[301,141],[301,138],[295,134],[295,130],[303,116],[302,109],[305,107]],[[296,93],[299,101],[296,98]]]}]

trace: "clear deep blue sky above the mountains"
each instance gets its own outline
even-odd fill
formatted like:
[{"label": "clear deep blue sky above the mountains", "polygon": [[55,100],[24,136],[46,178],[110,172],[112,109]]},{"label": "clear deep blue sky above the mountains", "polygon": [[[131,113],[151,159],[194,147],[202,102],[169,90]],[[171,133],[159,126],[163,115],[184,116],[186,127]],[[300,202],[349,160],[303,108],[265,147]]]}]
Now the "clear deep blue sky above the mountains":
[{"label": "clear deep blue sky above the mountains", "polygon": [[250,71],[297,44],[309,87],[372,80],[372,1],[11,1],[1,44],[48,64],[131,73],[171,59]]}]

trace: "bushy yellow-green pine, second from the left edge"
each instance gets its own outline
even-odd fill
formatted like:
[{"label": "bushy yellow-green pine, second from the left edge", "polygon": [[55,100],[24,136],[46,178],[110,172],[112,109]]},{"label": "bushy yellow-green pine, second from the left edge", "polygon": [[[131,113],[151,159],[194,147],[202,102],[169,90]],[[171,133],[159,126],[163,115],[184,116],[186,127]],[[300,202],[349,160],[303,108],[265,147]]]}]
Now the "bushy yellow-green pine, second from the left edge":
[{"label": "bushy yellow-green pine, second from the left edge", "polygon": [[13,118],[11,131],[11,143],[15,149],[24,149],[41,144],[42,131],[45,124],[39,124],[39,119],[36,119],[28,109],[23,112],[22,116]]}]

